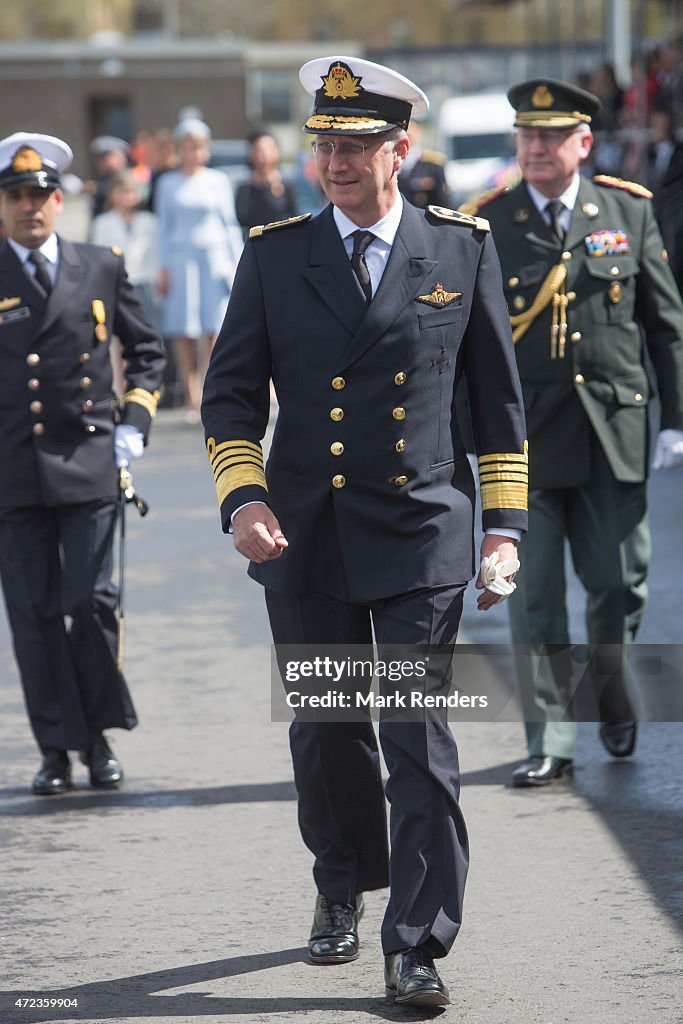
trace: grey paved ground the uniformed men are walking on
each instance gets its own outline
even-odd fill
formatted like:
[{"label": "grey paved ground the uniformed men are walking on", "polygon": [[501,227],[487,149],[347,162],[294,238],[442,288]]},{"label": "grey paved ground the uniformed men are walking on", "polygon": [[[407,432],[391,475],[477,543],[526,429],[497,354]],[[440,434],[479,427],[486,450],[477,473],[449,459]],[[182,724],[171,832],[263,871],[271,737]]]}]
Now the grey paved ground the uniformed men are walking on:
[{"label": "grey paved ground the uniformed men are walking on", "polygon": [[[658,544],[644,641],[680,637],[681,474],[656,475]],[[115,736],[124,790],[77,771],[63,799],[27,788],[37,756],[0,616],[0,1022],[416,1021],[383,999],[371,894],[358,962],[314,968],[309,856],[287,727],[269,721],[260,589],[219,531],[201,431],[162,413],[129,518],[127,674],[140,716]],[[579,593],[572,606],[580,613]],[[578,621],[577,640],[582,639]],[[463,637],[506,641],[505,612]],[[466,921],[442,974],[467,1024],[683,1020],[680,725],[648,724],[610,762],[582,726],[573,783],[508,787],[514,722],[459,725],[472,845]],[[69,1011],[17,998],[78,999]]]}]

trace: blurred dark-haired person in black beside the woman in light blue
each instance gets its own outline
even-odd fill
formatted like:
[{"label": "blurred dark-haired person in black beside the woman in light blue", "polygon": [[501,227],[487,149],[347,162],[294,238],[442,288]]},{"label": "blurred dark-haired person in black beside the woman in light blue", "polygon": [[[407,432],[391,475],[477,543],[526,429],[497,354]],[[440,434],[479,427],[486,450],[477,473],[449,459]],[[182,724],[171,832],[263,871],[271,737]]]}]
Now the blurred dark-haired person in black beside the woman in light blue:
[{"label": "blurred dark-haired person in black beside the woman in light blue", "polygon": [[249,138],[249,181],[238,188],[234,206],[238,220],[248,229],[255,224],[285,220],[297,213],[296,193],[291,184],[283,181],[280,172],[280,148],[273,136],[266,131],[255,131]]}]

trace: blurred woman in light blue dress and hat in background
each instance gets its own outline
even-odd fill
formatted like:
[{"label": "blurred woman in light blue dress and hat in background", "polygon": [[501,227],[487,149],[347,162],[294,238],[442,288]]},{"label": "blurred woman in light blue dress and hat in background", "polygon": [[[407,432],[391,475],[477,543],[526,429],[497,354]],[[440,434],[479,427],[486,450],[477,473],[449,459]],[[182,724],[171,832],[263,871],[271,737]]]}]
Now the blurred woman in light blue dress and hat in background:
[{"label": "blurred woman in light blue dress and hat in background", "polygon": [[243,246],[232,188],[206,166],[211,131],[198,118],[174,130],[178,168],[157,182],[164,335],[173,338],[185,418],[199,423],[202,381]]}]

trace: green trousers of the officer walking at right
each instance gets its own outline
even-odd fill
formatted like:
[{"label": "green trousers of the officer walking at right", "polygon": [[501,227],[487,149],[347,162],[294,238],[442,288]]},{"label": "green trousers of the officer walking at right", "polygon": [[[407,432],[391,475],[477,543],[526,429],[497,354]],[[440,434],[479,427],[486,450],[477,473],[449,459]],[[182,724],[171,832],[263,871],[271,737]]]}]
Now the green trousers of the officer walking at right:
[{"label": "green trousers of the officer walking at right", "polygon": [[[645,483],[614,479],[594,438],[589,481],[581,487],[529,492],[528,534],[519,546],[517,592],[508,602],[516,646],[519,694],[531,757],[573,758],[577,726],[572,685],[582,667],[572,660],[566,609],[565,541],[587,591],[589,644],[608,648],[601,659],[601,721],[635,718],[626,688],[626,651],[647,598],[650,536]],[[595,675],[596,651],[587,670]],[[573,683],[572,683],[573,680]]]}]

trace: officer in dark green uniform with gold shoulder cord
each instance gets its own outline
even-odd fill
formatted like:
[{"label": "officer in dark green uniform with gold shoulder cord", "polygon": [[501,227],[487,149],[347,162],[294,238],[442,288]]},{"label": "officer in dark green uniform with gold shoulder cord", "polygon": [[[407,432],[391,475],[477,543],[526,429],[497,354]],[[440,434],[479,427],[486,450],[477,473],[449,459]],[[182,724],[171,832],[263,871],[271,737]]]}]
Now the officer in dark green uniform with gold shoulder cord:
[{"label": "officer in dark green uniform with gold shoulder cord", "polygon": [[654,467],[683,461],[683,308],[650,193],[579,174],[597,97],[536,79],[508,98],[523,180],[462,209],[484,210],[490,223],[524,392],[529,531],[510,618],[514,643],[530,645],[517,648],[529,760],[513,780],[542,785],[569,772],[574,756],[567,540],[588,592],[589,641],[609,645],[607,660],[596,650],[588,667],[600,735],[614,757],[635,745],[624,649],[611,645],[634,640],[646,599],[646,357],[661,403]]}]

